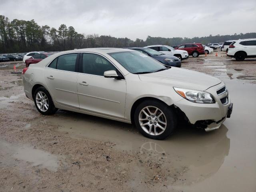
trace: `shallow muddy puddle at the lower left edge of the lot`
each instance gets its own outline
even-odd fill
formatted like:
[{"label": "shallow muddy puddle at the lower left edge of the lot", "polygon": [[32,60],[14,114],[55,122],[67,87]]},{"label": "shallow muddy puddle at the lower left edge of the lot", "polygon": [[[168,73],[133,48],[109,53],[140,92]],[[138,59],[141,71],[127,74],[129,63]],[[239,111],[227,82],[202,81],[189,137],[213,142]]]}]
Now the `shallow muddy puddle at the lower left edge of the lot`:
[{"label": "shallow muddy puddle at the lower left edge of the lot", "polygon": [[0,166],[16,165],[17,160],[22,160],[29,162],[31,166],[38,166],[38,168],[46,168],[49,171],[56,172],[60,164],[66,165],[64,159],[58,158],[56,155],[28,145],[16,146],[4,140],[0,140],[0,154]]}]

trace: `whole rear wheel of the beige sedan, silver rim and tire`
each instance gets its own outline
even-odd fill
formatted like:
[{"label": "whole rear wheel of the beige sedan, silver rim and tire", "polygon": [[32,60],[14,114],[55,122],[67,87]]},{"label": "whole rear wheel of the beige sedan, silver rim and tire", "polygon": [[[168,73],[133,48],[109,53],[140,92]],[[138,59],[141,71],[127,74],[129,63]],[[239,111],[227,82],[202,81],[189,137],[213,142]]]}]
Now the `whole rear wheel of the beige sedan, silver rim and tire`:
[{"label": "whole rear wheel of the beige sedan, silver rim and tire", "polygon": [[34,93],[34,103],[36,109],[42,115],[52,115],[58,109],[55,108],[50,93],[44,87],[38,87]]}]

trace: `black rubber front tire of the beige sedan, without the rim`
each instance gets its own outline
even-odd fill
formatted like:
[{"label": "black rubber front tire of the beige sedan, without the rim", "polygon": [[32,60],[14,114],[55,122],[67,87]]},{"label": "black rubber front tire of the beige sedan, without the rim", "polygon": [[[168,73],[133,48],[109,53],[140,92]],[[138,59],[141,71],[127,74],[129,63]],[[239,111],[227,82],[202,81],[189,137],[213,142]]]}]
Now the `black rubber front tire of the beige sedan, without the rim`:
[{"label": "black rubber front tire of the beige sedan, without the rim", "polygon": [[[166,117],[166,121],[167,121],[167,126],[166,126],[166,130],[164,130],[164,132],[162,134],[157,135],[157,136],[150,135],[150,134],[146,133],[141,128],[140,122],[139,122],[139,114],[140,114],[140,111],[146,106],[155,106],[155,107],[159,108],[160,110],[162,110],[162,112],[164,113],[164,115]],[[176,118],[175,112],[168,105],[166,105],[162,102],[158,102],[156,100],[146,100],[137,106],[137,108],[134,112],[134,124],[135,124],[136,128],[139,130],[139,132],[142,135],[144,135],[145,137],[148,137],[151,139],[162,140],[162,139],[167,138],[168,136],[170,136],[172,134],[172,132],[174,132],[174,130],[177,126],[177,118]]]}]

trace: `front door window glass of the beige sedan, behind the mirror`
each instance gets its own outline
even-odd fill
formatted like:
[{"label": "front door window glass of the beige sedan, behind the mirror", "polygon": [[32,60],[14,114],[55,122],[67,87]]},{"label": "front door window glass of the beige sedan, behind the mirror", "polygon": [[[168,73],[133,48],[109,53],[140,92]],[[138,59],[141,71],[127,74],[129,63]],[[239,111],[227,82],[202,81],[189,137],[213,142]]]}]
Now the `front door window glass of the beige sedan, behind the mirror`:
[{"label": "front door window glass of the beige sedan, behind the mirror", "polygon": [[83,53],[83,73],[104,76],[104,72],[109,70],[116,71],[116,68],[104,57]]}]

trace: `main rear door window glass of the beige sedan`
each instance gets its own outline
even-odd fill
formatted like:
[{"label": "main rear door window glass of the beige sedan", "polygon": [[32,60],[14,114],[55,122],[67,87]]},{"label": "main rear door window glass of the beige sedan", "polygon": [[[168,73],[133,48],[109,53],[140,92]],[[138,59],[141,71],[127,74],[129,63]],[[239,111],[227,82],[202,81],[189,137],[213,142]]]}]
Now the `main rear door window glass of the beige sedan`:
[{"label": "main rear door window glass of the beige sedan", "polygon": [[75,72],[77,53],[65,54],[58,57],[57,66],[58,70]]}]

